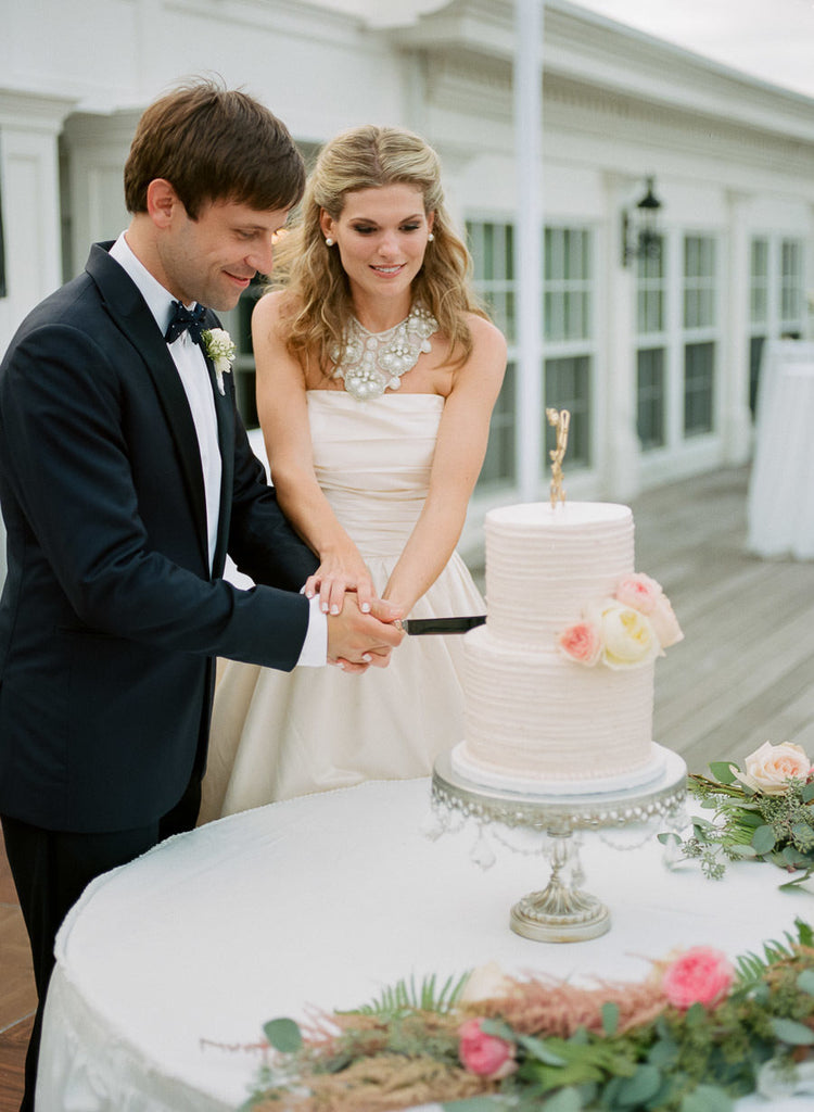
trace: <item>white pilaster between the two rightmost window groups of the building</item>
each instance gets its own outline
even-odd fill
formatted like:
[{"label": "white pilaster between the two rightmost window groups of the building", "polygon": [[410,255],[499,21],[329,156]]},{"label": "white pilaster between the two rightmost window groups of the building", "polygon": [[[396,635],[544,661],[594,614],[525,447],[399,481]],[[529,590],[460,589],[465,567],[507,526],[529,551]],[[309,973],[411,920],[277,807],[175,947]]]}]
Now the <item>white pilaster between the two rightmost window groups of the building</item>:
[{"label": "white pilaster between the two rightmost window groups of the building", "polygon": [[729,190],[725,342],[721,359],[721,435],[725,464],[745,463],[752,449],[750,413],[750,198]]}]

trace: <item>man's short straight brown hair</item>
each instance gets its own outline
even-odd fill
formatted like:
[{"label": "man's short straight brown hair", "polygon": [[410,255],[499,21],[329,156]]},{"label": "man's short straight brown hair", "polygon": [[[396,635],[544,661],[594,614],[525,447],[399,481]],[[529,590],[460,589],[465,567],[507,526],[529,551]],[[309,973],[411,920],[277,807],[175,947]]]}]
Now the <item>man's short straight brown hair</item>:
[{"label": "man's short straight brown hair", "polygon": [[147,211],[147,187],[156,178],[170,182],[196,220],[208,201],[292,208],[305,188],[305,165],[286,125],[257,100],[195,80],[155,101],[138,122],[125,165],[129,212]]}]

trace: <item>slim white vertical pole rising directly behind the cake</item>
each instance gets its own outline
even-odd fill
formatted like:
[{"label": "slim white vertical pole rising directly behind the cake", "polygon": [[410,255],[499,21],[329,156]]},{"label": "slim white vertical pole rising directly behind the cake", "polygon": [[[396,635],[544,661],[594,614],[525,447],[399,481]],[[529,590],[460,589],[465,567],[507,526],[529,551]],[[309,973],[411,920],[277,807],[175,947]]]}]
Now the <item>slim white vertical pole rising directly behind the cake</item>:
[{"label": "slim white vertical pole rising directly behind the cake", "polygon": [[517,477],[522,502],[540,496],[543,467],[543,4],[515,6],[517,168]]}]

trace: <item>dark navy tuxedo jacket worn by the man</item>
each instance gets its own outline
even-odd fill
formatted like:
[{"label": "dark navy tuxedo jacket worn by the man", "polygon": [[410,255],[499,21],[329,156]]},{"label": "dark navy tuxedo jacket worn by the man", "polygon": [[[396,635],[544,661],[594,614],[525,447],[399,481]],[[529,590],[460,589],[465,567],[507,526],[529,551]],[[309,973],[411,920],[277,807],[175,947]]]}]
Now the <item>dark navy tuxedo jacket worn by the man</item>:
[{"label": "dark navy tuxedo jacket worn by the man", "polygon": [[[183,387],[109,247],[30,314],[0,365],[0,813],[61,831],[127,830],[178,802],[205,765],[214,657],[292,668],[317,566],[225,375],[210,575]],[[260,586],[220,578],[227,552]]]}]

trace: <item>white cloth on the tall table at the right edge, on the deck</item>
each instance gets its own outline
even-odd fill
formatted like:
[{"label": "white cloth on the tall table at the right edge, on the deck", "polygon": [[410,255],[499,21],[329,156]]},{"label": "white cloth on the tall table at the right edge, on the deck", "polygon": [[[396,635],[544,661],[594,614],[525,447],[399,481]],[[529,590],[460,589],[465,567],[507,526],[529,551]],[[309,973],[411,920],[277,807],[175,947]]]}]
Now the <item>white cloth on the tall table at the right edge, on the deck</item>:
[{"label": "white cloth on the tall table at the right edge, on the deck", "polygon": [[747,548],[814,559],[814,344],[764,348],[747,502]]}]

